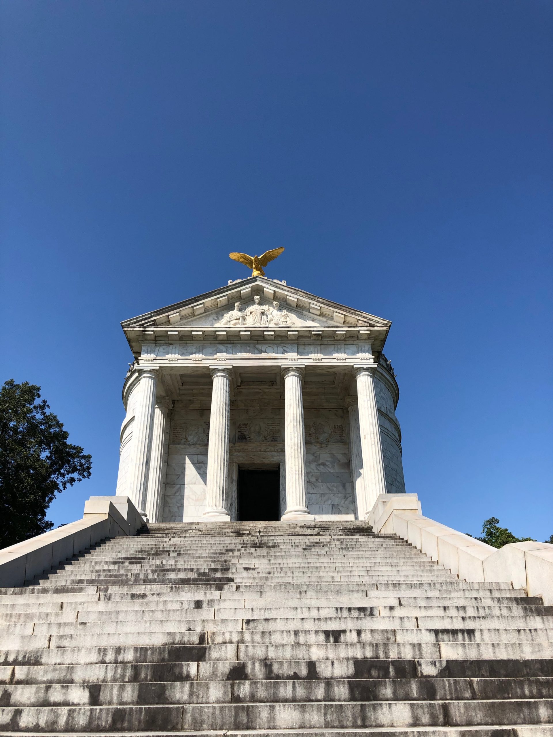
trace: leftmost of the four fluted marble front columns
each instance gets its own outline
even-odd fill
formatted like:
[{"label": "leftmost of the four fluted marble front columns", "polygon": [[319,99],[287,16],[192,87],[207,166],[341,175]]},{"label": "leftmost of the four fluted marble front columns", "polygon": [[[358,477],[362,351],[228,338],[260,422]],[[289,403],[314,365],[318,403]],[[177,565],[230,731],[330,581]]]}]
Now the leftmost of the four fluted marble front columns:
[{"label": "leftmost of the four fluted marble front columns", "polygon": [[146,517],[148,477],[153,436],[153,409],[156,405],[157,368],[140,368],[133,423],[133,458],[129,496],[142,517]]}]

